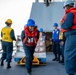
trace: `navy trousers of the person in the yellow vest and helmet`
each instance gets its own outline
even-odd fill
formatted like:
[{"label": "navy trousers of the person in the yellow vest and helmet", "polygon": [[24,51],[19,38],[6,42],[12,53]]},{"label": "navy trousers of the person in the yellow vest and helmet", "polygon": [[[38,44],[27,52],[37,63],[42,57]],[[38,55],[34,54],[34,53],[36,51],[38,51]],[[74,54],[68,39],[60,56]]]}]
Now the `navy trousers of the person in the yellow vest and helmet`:
[{"label": "navy trousers of the person in the yellow vest and helmet", "polygon": [[11,62],[12,53],[13,53],[13,42],[2,41],[2,49],[3,49],[3,53],[1,59],[3,61],[6,59],[6,62]]}]

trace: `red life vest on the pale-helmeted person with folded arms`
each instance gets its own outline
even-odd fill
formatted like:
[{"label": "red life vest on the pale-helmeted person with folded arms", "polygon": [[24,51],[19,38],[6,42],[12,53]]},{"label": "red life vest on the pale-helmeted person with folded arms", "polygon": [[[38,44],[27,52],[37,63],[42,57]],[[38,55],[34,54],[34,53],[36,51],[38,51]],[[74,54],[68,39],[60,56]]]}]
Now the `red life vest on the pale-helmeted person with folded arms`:
[{"label": "red life vest on the pale-helmeted person with folded arms", "polygon": [[[75,8],[75,7],[74,7],[74,8],[70,8],[68,11],[65,12],[65,15],[64,15],[64,17],[62,18],[61,22],[64,23],[64,21],[65,21],[65,19],[66,19],[66,15],[67,15],[67,13],[69,13],[69,12],[71,12],[71,13],[74,14],[74,20],[73,20],[73,25],[72,25],[72,27],[71,27],[70,29],[68,29],[68,30],[74,30],[74,29],[76,29],[76,8]],[[62,31],[62,32],[67,32],[68,30],[65,30],[65,29],[62,29],[62,28],[61,28],[61,31]]]}]

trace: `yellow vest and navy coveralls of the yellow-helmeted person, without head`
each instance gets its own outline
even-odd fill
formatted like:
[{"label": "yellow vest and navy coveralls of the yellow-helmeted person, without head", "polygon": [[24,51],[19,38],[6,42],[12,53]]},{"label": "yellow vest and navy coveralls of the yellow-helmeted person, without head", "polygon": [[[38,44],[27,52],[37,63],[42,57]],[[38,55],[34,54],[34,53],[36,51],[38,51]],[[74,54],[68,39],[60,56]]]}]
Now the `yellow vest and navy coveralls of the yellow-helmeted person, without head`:
[{"label": "yellow vest and navy coveralls of the yellow-helmeted person, without head", "polygon": [[1,59],[4,61],[6,59],[6,62],[11,62],[12,59],[12,52],[13,52],[13,40],[16,41],[14,30],[6,26],[1,31],[1,37],[2,39],[2,57]]}]

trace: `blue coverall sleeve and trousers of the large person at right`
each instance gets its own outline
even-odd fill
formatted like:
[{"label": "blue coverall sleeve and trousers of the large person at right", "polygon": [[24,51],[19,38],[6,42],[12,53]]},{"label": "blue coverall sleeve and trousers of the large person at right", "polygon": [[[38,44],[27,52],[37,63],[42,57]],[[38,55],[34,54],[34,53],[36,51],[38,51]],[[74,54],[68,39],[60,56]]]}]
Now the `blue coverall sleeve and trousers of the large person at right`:
[{"label": "blue coverall sleeve and trousers of the large person at right", "polygon": [[[69,12],[66,16],[66,20],[61,25],[61,28],[67,30],[72,27],[73,13]],[[68,30],[64,33],[66,37],[64,47],[64,62],[66,72],[68,74],[76,74],[76,30]]]}]

